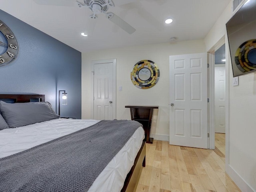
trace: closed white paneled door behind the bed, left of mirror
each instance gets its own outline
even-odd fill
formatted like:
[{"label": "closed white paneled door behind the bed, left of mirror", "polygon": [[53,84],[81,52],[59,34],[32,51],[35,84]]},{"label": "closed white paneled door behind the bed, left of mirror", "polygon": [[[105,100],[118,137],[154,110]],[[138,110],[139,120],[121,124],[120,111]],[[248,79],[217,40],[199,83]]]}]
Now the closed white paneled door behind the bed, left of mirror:
[{"label": "closed white paneled door behind the bed, left of mirror", "polygon": [[94,119],[113,120],[115,116],[114,63],[94,64]]}]

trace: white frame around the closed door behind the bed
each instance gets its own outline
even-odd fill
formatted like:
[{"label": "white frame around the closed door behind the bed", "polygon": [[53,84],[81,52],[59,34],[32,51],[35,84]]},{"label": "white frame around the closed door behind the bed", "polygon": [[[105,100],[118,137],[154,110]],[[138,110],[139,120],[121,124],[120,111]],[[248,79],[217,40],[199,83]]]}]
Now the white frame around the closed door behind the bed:
[{"label": "white frame around the closed door behind the bed", "polygon": [[91,61],[91,119],[94,115],[94,64],[113,63],[113,118],[116,118],[116,59],[104,59]]}]

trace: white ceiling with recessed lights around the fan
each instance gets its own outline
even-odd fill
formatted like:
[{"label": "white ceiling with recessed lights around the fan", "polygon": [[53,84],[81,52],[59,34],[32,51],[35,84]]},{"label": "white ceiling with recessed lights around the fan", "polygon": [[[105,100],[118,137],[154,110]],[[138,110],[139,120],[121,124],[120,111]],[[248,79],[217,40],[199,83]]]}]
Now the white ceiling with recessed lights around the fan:
[{"label": "white ceiling with recessed lights around the fan", "polygon": [[[53,0],[52,0],[53,1]],[[83,0],[80,0],[83,1]],[[113,0],[120,4],[121,0]],[[131,0],[122,0],[122,3]],[[134,0],[110,7],[136,29],[128,34],[99,14],[92,36],[83,37],[88,8],[39,5],[33,0],[0,0],[0,8],[80,52],[205,38],[230,0]],[[171,17],[174,21],[165,24]]]}]

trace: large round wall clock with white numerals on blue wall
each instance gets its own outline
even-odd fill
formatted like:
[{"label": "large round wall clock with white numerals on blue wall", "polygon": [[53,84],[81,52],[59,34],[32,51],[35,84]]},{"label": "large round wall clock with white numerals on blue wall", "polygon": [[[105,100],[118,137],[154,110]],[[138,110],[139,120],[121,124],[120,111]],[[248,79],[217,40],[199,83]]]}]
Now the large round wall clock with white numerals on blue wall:
[{"label": "large round wall clock with white numerals on blue wall", "polygon": [[0,66],[12,62],[18,55],[18,42],[12,31],[0,20]]}]

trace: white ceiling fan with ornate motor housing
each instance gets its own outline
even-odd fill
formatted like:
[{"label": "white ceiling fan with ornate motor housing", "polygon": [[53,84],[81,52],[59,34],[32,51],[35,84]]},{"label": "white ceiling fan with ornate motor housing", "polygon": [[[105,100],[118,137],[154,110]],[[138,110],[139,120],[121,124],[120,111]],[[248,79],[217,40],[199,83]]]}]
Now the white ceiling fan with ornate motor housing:
[{"label": "white ceiling fan with ornate motor housing", "polygon": [[[117,0],[117,5],[127,4],[136,0]],[[98,14],[104,13],[106,18],[122,28],[128,34],[132,34],[136,31],[130,24],[122,20],[113,12],[107,12],[109,7],[114,7],[112,0],[34,0],[40,5],[57,5],[57,6],[78,6],[79,8],[89,8],[93,14],[90,15],[91,19],[97,19]]]}]

